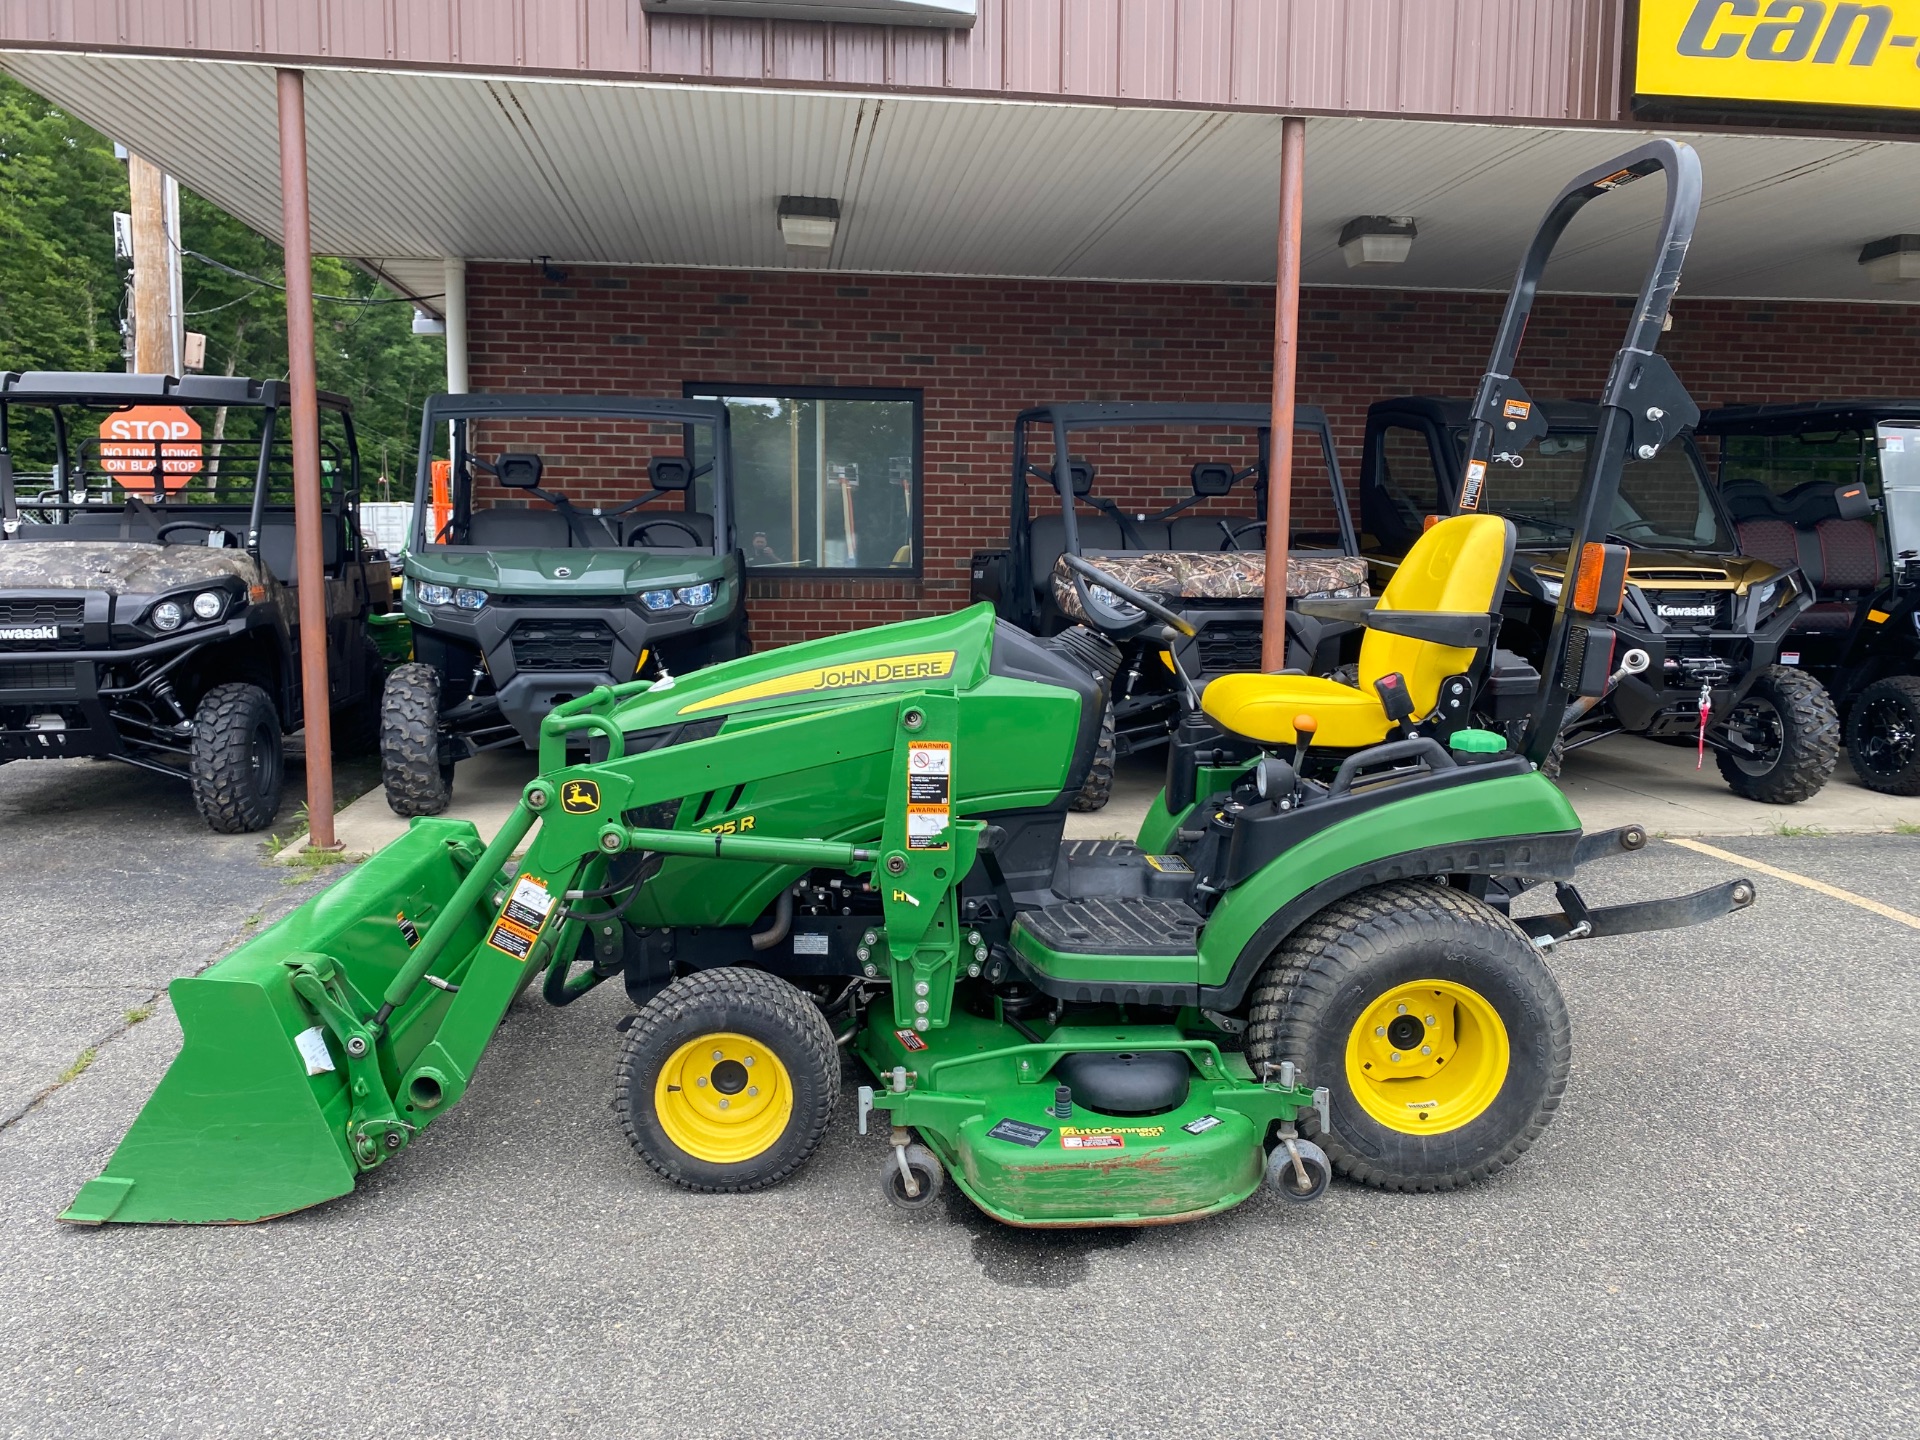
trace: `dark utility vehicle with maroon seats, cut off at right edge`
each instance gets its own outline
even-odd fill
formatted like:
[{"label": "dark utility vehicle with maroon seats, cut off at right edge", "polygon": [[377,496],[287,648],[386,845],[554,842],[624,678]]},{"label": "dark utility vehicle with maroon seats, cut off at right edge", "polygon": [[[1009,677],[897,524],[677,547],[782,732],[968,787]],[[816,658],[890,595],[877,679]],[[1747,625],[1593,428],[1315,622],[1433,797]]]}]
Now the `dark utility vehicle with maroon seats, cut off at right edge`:
[{"label": "dark utility vehicle with maroon seats, cut off at right edge", "polygon": [[1728,405],[1699,434],[1740,547],[1812,582],[1782,664],[1826,685],[1862,785],[1920,795],[1920,399]]}]

